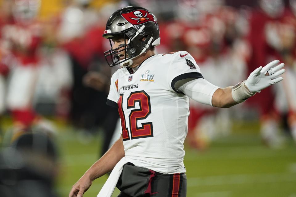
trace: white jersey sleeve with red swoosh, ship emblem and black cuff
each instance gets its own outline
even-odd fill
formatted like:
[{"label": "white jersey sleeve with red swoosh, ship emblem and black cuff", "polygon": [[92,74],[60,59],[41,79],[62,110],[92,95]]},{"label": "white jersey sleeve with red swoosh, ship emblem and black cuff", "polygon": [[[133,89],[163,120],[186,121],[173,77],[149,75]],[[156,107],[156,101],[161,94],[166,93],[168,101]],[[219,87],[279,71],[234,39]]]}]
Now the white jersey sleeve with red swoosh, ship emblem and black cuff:
[{"label": "white jersey sleeve with red swoosh, ship emblem and black cuff", "polygon": [[[176,88],[176,84],[190,79],[204,78],[193,57],[187,51],[179,51],[174,54],[167,72],[167,81],[172,91],[182,93]],[[180,86],[180,85],[178,85]]]}]

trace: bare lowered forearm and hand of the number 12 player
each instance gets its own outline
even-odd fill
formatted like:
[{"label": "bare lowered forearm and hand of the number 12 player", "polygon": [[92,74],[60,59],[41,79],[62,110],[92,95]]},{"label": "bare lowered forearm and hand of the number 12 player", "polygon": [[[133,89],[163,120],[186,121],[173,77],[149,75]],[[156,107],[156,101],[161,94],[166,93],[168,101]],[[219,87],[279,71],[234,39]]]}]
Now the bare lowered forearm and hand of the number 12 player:
[{"label": "bare lowered forearm and hand of the number 12 player", "polygon": [[101,159],[97,160],[73,185],[69,197],[82,197],[84,192],[92,185],[92,181],[110,172],[118,161],[124,157],[124,154],[121,136]]}]

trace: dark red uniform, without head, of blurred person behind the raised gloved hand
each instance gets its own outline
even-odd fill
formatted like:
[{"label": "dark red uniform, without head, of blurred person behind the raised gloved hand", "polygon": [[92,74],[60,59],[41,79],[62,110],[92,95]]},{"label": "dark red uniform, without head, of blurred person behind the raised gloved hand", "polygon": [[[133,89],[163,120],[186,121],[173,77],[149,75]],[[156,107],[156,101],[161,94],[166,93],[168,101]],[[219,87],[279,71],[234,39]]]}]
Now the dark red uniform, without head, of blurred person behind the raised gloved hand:
[{"label": "dark red uniform, without head, of blurred person behind the raised gloved hand", "polygon": [[[270,13],[266,14],[268,11],[264,12],[264,8],[262,10],[255,10],[252,13],[250,19],[249,43],[253,51],[249,61],[249,72],[255,69],[254,66],[265,65],[271,59],[278,59],[285,62],[287,71],[289,70],[289,64],[291,64],[291,62],[289,63],[286,56],[287,53],[291,54],[291,48],[295,48],[295,46],[290,46],[290,49],[287,49],[284,46],[285,41],[283,38],[286,33],[289,33],[291,28],[295,28],[295,18],[290,10],[283,9],[283,7],[280,8],[278,10],[273,10],[277,11],[273,12],[273,15]],[[292,34],[295,34],[295,32]],[[290,44],[294,43],[293,38],[289,38],[288,40]],[[295,45],[295,43],[292,45]],[[292,57],[294,55],[289,56],[289,58],[294,58]],[[285,74],[285,81],[289,79],[287,76],[289,75],[288,73],[290,72],[288,71]],[[283,81],[283,83],[278,86],[266,88],[261,91],[260,94],[256,94],[247,101],[248,104],[255,105],[259,109],[261,135],[263,140],[270,146],[281,144],[277,133],[280,118],[279,111],[282,111],[282,109],[279,110],[279,104],[277,104],[278,102],[275,100],[275,93],[285,95],[284,92],[277,93],[278,91],[284,90],[284,87],[279,88],[284,84],[285,82]],[[282,98],[277,100],[283,101],[286,99]],[[283,105],[280,108],[283,108]]]}]

